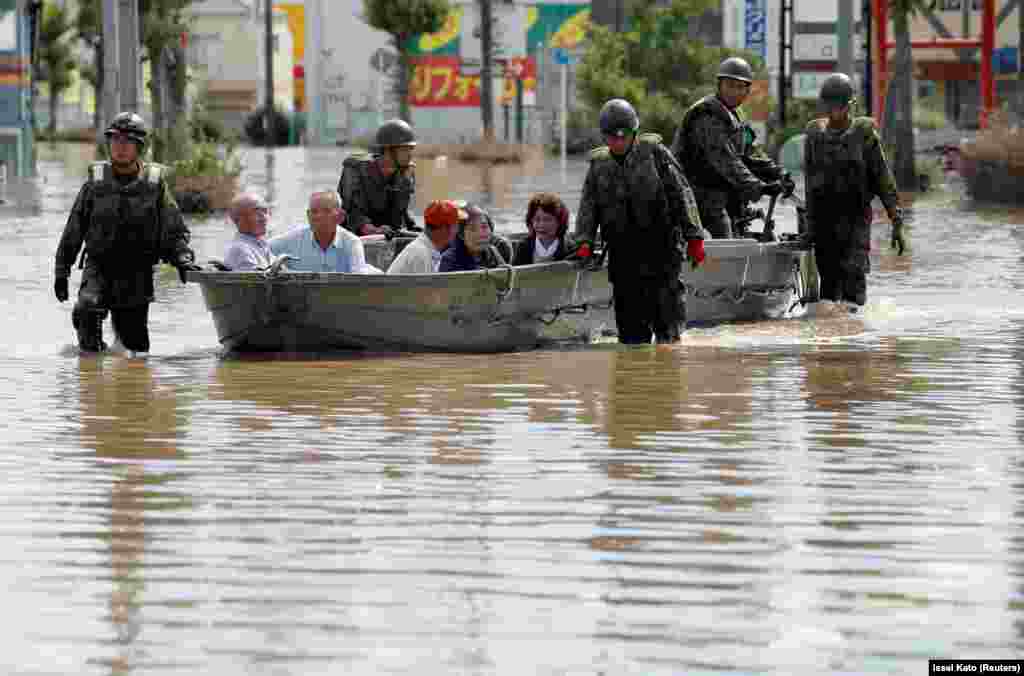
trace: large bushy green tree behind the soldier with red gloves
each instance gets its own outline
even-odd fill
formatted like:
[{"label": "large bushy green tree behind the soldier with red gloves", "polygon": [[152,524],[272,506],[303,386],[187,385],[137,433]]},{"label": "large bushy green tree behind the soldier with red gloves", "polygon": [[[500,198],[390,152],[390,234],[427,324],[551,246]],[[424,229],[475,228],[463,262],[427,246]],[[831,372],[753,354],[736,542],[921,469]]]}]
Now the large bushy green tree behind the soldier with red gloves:
[{"label": "large bushy green tree behind the soldier with red gloves", "polygon": [[689,17],[715,6],[713,0],[673,0],[670,5],[639,0],[632,6],[628,31],[593,26],[577,72],[578,91],[591,112],[609,98],[625,98],[640,114],[643,129],[671,142],[686,109],[714,91],[723,58],[738,53],[755,70],[762,68],[753,54],[711,47],[689,36]]}]

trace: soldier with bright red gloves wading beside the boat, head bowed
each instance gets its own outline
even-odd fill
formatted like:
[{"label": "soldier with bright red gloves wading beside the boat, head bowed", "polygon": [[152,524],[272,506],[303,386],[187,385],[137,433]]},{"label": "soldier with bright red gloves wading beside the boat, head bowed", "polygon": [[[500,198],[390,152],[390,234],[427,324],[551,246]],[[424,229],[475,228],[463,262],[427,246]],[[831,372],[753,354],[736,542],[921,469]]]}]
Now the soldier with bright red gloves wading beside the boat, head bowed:
[{"label": "soldier with bright red gloves wading beside the boat, head bowed", "polygon": [[686,322],[683,261],[703,260],[696,202],[662,137],[638,133],[629,101],[606,102],[599,123],[607,144],[590,154],[571,256],[590,257],[600,235],[620,342],[676,342]]}]

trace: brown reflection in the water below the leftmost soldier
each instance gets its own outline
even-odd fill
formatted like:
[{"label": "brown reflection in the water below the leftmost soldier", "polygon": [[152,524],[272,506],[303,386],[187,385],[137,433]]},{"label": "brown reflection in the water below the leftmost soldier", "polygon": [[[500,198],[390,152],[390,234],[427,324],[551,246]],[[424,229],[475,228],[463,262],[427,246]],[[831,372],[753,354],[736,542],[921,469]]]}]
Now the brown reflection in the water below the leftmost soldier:
[{"label": "brown reflection in the water below the leftmost soldier", "polygon": [[163,553],[154,551],[147,522],[189,503],[167,464],[184,457],[177,437],[186,421],[174,388],[162,384],[146,362],[81,358],[78,366],[81,446],[111,469],[110,522],[99,536],[109,544],[113,583],[113,654],[105,662],[112,674],[128,674],[144,658],[145,573]]}]

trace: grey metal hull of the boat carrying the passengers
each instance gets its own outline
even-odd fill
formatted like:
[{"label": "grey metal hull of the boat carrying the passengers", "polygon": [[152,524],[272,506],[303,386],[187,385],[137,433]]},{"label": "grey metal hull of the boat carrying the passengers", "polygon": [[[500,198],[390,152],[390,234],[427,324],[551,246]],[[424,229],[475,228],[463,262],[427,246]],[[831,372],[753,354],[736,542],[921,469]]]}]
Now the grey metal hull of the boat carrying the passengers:
[{"label": "grey metal hull of the boat carrying the passengers", "polygon": [[[370,243],[386,267],[390,243]],[[810,252],[712,241],[687,269],[689,323],[773,319],[813,295]],[[230,350],[511,351],[614,328],[607,270],[561,261],[439,274],[189,272]],[[813,289],[811,288],[813,285]]]}]

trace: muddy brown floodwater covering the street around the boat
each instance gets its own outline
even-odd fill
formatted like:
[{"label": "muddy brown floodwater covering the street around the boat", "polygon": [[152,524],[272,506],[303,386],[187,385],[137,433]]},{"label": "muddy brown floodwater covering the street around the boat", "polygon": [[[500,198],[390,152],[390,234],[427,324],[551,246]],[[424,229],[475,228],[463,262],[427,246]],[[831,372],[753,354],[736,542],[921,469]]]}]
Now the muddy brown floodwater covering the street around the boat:
[{"label": "muddy brown floodwater covering the street around the boat", "polygon": [[[0,206],[0,672],[918,675],[1024,651],[1024,212],[940,188],[905,256],[876,224],[863,314],[673,347],[224,358],[162,267],[151,356],[80,357],[52,268],[89,158],[40,156]],[[243,183],[280,233],[341,159],[250,150]],[[424,161],[418,215],[457,195],[518,231],[539,189],[574,213],[585,171]],[[201,261],[233,235],[189,224]]]}]

